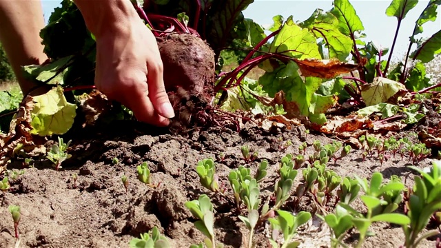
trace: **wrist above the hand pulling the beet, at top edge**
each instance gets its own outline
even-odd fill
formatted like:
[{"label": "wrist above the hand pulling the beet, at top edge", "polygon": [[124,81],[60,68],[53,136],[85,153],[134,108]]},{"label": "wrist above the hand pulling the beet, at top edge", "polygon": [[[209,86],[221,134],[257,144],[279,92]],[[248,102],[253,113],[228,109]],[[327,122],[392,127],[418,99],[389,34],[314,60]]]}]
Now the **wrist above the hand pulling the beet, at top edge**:
[{"label": "wrist above the hand pulling the beet, at top edge", "polygon": [[95,37],[123,32],[132,21],[141,21],[130,0],[74,0],[85,25]]}]

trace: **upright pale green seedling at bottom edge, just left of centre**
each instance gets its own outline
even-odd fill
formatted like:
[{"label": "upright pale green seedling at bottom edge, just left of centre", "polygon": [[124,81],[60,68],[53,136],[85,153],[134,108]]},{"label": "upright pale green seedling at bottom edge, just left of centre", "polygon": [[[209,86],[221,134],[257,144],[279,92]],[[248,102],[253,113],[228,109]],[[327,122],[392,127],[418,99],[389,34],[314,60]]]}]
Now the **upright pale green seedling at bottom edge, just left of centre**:
[{"label": "upright pale green seedling at bottom edge, just left of centre", "polygon": [[207,245],[207,247],[216,247],[216,238],[214,236],[214,210],[209,197],[203,194],[199,196],[198,200],[187,201],[185,207],[198,219],[194,223],[194,227],[207,237],[204,240],[205,245]]}]

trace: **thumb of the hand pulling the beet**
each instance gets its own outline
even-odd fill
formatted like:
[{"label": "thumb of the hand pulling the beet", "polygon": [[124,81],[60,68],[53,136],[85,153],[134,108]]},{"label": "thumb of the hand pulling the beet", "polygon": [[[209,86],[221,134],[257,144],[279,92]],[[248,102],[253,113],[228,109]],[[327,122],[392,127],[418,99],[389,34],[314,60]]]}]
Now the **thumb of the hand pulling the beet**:
[{"label": "thumb of the hand pulling the beet", "polygon": [[161,116],[173,118],[174,110],[167,92],[165,92],[162,64],[152,65],[152,63],[147,63],[147,85],[150,92],[150,101],[152,101],[154,109]]}]

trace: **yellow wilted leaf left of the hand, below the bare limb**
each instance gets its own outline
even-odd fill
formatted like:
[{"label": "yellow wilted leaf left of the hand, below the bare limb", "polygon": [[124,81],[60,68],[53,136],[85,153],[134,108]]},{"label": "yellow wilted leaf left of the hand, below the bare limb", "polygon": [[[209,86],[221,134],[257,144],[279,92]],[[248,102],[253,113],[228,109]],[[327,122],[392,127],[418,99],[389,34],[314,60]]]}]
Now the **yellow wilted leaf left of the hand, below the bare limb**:
[{"label": "yellow wilted leaf left of the hand, below the bare limb", "polygon": [[31,134],[48,136],[65,134],[70,130],[76,116],[76,105],[65,99],[63,87],[54,87],[32,100],[35,104],[31,112]]}]

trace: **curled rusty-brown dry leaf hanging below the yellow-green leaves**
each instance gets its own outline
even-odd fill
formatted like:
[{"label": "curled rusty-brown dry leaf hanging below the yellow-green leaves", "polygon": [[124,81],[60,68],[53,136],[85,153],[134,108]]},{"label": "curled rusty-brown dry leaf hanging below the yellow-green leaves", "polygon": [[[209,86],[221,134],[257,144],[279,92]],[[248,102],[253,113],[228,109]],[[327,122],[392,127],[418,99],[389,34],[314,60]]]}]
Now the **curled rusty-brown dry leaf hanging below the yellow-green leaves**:
[{"label": "curled rusty-brown dry leaf hanging below the yellow-green leaves", "polygon": [[344,63],[338,59],[305,59],[297,60],[302,76],[316,76],[321,79],[334,79],[334,77],[357,70],[358,65]]}]

